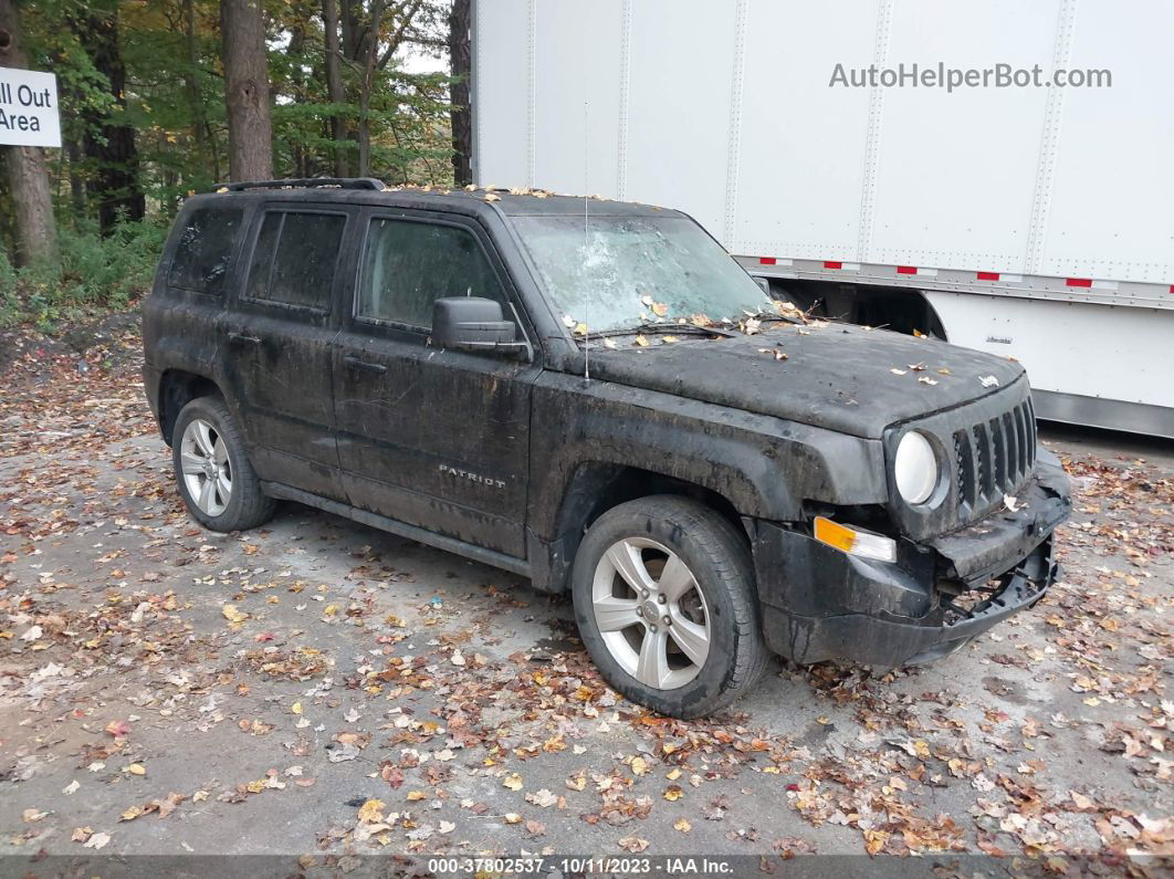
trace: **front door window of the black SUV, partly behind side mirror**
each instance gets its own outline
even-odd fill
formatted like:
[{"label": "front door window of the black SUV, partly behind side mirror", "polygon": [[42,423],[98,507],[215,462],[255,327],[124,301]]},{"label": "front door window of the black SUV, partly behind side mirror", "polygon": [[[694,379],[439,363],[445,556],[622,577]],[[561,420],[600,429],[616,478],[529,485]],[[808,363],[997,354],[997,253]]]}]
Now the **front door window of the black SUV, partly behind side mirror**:
[{"label": "front door window of the black SUV, partly behind side mirror", "polygon": [[406,219],[372,219],[363,257],[358,316],[432,327],[432,303],[446,296],[506,298],[467,229]]}]

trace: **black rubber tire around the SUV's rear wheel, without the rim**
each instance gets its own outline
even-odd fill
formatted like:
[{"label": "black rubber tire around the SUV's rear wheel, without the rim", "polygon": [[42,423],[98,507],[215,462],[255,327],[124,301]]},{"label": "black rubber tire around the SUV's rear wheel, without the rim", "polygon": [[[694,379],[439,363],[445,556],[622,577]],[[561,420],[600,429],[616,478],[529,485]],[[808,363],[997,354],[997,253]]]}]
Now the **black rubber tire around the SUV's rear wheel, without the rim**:
[{"label": "black rubber tire around the SUV's rear wheel, without the rim", "polygon": [[[188,426],[196,419],[205,421],[215,430],[228,453],[232,488],[223,511],[215,515],[200,508],[182,475],[183,438]],[[249,457],[244,451],[241,432],[237,430],[228,406],[220,397],[197,397],[180,411],[171,434],[171,462],[175,467],[175,482],[183,496],[183,502],[188,506],[188,512],[205,528],[214,532],[248,530],[272,518],[276,501],[261,491],[257,474],[254,472],[252,465],[249,464]]]}]

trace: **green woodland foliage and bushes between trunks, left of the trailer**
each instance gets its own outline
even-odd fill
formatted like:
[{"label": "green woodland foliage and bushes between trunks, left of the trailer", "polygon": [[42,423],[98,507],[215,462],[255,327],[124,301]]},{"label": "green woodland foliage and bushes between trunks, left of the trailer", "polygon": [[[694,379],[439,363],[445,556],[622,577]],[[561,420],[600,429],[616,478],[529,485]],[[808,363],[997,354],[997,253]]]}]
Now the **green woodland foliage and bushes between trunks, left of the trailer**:
[{"label": "green woodland foliage and bushes between trunks, left of the trailer", "polygon": [[[70,311],[121,307],[146,290],[183,198],[228,178],[220,2],[38,0],[20,6],[29,67],[53,70],[59,82],[65,148],[46,150],[46,157],[61,264],[11,264],[16,205],[0,180],[0,323],[52,323]],[[331,101],[322,0],[264,0],[274,174],[333,176],[339,160],[348,174],[357,174],[358,133],[366,122],[372,175],[391,183],[451,185],[450,77],[407,73],[403,63],[407,56],[443,56],[450,0],[339,0],[337,7],[348,25],[340,29],[343,100]],[[369,55],[377,7],[380,26]],[[126,70],[121,100],[112,94],[109,54],[92,58],[89,50],[104,50],[87,49],[95,45],[87,28],[103,25],[117,27],[114,60]],[[375,58],[367,88],[364,67]],[[337,141],[335,119],[343,129]],[[135,133],[130,167],[150,221],[123,223],[103,238],[96,229],[101,177],[115,165],[93,144],[106,142],[103,129],[110,126]]]}]

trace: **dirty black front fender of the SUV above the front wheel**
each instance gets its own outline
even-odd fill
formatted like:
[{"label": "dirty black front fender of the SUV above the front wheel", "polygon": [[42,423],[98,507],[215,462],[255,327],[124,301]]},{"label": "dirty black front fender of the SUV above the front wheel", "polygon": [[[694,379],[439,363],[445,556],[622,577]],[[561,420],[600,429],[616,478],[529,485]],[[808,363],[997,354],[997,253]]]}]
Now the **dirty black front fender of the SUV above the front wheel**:
[{"label": "dirty black front fender of the SUV above the front wheel", "polygon": [[531,516],[552,539],[583,464],[637,467],[700,486],[742,516],[803,518],[805,501],[883,503],[880,444],[817,427],[565,373],[535,383]]}]

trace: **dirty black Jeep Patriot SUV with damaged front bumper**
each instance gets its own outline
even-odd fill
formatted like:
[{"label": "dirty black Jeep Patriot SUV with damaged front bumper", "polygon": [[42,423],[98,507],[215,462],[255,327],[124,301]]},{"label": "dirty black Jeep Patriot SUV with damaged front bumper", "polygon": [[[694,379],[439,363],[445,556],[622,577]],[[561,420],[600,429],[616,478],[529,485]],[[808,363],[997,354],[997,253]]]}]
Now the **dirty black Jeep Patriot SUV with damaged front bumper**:
[{"label": "dirty black Jeep Patriot SUV with damaged front bumper", "polygon": [[926,662],[1037,602],[1070,511],[1027,377],[814,322],[688,216],[373,180],[189,198],[143,307],[191,514],[291,499],[569,590],[697,716],[797,662]]}]

